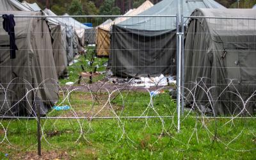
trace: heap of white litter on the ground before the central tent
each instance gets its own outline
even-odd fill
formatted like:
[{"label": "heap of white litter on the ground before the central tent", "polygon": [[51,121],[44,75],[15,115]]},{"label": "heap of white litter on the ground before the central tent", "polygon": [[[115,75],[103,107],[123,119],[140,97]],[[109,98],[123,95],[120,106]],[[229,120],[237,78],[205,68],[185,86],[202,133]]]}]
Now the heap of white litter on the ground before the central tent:
[{"label": "heap of white litter on the ground before the central tent", "polygon": [[161,74],[159,77],[140,77],[140,79],[134,79],[131,86],[150,88],[151,86],[168,86],[168,84],[176,84],[176,81],[172,76],[164,77]]}]

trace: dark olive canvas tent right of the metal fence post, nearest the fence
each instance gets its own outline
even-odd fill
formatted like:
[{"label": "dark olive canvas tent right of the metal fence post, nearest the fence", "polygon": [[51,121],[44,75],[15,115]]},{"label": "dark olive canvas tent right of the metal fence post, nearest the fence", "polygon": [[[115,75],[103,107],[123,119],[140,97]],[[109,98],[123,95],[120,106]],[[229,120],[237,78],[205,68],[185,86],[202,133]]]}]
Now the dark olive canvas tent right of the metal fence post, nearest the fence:
[{"label": "dark olive canvas tent right of the metal fence post, nearest the fence", "polygon": [[[184,50],[184,84],[195,94],[193,100],[186,89],[186,100],[216,115],[239,113],[244,109],[241,99],[245,103],[256,90],[256,20],[248,19],[255,17],[256,10],[198,9],[192,15],[242,17],[191,19]],[[232,83],[231,79],[234,79]],[[255,97],[252,97],[243,113],[252,114],[255,109]]]}]

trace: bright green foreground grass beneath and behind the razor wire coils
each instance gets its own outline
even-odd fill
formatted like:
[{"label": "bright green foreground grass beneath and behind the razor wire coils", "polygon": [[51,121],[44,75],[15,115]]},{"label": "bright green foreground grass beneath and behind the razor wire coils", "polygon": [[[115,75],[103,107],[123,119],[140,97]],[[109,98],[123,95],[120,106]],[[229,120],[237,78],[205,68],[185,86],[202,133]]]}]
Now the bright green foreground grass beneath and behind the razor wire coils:
[{"label": "bright green foreground grass beneath and behind the razor wire coils", "polygon": [[[112,106],[120,116],[140,116],[147,108],[150,100],[148,93],[124,92],[122,97],[112,99]],[[63,104],[71,105],[76,113],[83,115],[90,113],[93,101],[90,95],[83,92],[74,92],[70,95],[70,104],[67,100]],[[108,95],[102,93],[100,102],[95,103],[95,111],[102,108]],[[63,100],[61,97],[60,102]],[[154,108],[159,115],[173,115],[175,102],[170,99],[167,92],[154,97]],[[71,111],[52,111],[49,116],[72,115]],[[156,115],[148,109],[148,116]],[[193,113],[192,115],[195,115]],[[114,116],[109,107],[102,109],[99,116]],[[177,122],[177,117],[173,118]],[[80,136],[80,127],[83,128],[83,137]],[[146,125],[147,122],[147,125]],[[202,127],[202,120],[196,122],[195,118],[186,118],[181,123],[181,131],[177,132],[172,118],[164,118],[166,131],[161,134],[162,122],[159,118],[148,119],[122,119],[122,124],[116,119],[108,120],[42,120],[45,140],[42,140],[43,152],[58,150],[65,151],[71,159],[255,159],[255,150],[238,152],[256,148],[255,120],[234,120],[234,125],[223,125],[227,120],[205,120],[209,131],[214,133],[217,128],[217,140],[207,134]],[[17,152],[36,152],[36,122],[35,120],[2,120],[1,124],[8,125],[8,140],[13,147],[22,148],[15,150],[6,144],[0,145],[0,157],[8,154],[11,159]],[[125,134],[119,125],[124,125]],[[195,125],[197,124],[197,136]],[[216,127],[217,125],[217,127]],[[147,126],[147,127],[145,127]],[[241,131],[241,136],[227,146]],[[208,132],[209,133],[209,132]],[[254,133],[254,136],[253,134]],[[0,140],[3,140],[3,133]],[[161,137],[159,137],[161,135]],[[193,136],[191,136],[193,135]],[[191,140],[189,141],[189,138]],[[76,142],[76,140],[79,140]],[[189,141],[189,143],[188,143]],[[222,143],[222,142],[223,143]],[[4,141],[7,143],[7,141]],[[13,156],[13,157],[12,157]]]}]

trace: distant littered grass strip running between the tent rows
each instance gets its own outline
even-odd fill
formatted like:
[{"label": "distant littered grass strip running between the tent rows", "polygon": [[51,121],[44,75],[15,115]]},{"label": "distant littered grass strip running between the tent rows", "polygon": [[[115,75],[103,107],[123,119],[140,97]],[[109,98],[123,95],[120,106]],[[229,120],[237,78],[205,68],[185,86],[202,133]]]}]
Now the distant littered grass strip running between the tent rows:
[{"label": "distant littered grass strip running between the tent rows", "polygon": [[[81,72],[93,72],[95,66],[99,65],[99,68],[97,71],[102,72],[106,70],[106,67],[103,66],[104,63],[108,62],[108,58],[96,58],[95,56],[95,47],[86,47],[86,58],[84,55],[79,56],[79,58],[76,58],[75,60],[78,60],[77,63],[74,63],[73,65],[69,66],[67,68],[68,70],[68,79],[60,79],[60,84],[65,84],[67,82],[74,82],[76,83],[79,79],[79,76]],[[92,57],[94,57],[94,63],[92,66],[88,65],[88,61],[92,60]],[[84,70],[82,69],[81,65],[83,65]],[[93,78],[93,82],[99,81],[100,79],[103,79],[105,77],[105,74],[102,74],[96,78]]]}]

